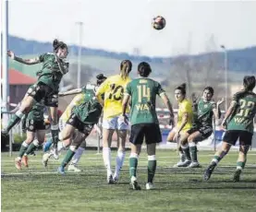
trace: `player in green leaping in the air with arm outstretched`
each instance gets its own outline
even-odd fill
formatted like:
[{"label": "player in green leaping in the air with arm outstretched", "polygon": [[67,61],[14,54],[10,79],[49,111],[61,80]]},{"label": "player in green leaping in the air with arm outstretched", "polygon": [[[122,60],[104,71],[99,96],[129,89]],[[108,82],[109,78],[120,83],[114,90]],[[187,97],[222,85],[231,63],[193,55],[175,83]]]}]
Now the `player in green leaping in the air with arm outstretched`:
[{"label": "player in green leaping in the air with arm outstretched", "polygon": [[43,100],[44,105],[50,107],[51,131],[55,147],[58,141],[57,107],[58,107],[58,87],[61,78],[68,72],[67,44],[63,41],[53,42],[54,53],[43,53],[34,59],[22,59],[15,53],[8,51],[8,56],[13,60],[25,65],[43,64],[40,76],[33,88],[27,91],[28,97],[23,100],[18,112],[2,130],[2,135],[7,135],[10,129],[18,124],[21,117],[30,111],[34,101]]}]

